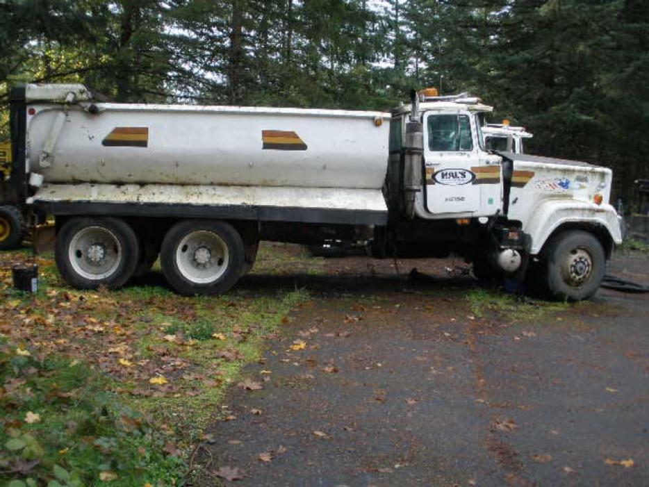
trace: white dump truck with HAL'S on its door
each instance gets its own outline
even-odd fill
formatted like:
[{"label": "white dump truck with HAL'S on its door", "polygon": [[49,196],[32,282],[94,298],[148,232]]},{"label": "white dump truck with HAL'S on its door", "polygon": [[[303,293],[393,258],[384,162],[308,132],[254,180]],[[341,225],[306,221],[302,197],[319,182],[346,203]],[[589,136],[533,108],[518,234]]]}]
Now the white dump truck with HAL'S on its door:
[{"label": "white dump truck with HAL'S on its door", "polygon": [[227,291],[258,242],[371,238],[377,257],[472,261],[593,295],[621,242],[611,171],[486,151],[479,99],[413,92],[392,113],[113,104],[83,85],[11,92],[6,193],[56,217],[77,288],[117,288],[158,255],[186,295]]}]

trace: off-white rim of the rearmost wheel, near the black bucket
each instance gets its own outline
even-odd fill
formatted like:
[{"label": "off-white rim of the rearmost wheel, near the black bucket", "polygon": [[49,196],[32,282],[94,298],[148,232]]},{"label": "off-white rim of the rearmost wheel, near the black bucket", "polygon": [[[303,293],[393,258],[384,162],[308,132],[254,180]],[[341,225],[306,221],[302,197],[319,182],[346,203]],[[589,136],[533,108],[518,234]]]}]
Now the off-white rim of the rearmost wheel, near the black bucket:
[{"label": "off-white rim of the rearmost wheel, near the black bucket", "polygon": [[111,276],[122,262],[122,245],[115,233],[103,226],[87,226],[78,231],[68,247],[74,272],[91,281]]}]

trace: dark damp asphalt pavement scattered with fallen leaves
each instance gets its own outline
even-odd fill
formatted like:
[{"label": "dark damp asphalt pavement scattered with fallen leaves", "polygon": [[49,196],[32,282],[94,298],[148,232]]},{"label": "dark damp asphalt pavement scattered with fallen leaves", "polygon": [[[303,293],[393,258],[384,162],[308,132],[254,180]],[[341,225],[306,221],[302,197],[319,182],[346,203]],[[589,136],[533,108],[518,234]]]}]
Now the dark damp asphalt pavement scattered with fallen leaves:
[{"label": "dark damp asphalt pavement scattered with fallen leaves", "polygon": [[[517,317],[491,292],[472,308],[475,282],[438,262],[416,282],[361,258],[243,281],[315,299],[245,368],[263,389],[231,389],[195,485],[225,465],[249,486],[649,485],[649,295]],[[649,258],[609,272],[649,283]]]}]

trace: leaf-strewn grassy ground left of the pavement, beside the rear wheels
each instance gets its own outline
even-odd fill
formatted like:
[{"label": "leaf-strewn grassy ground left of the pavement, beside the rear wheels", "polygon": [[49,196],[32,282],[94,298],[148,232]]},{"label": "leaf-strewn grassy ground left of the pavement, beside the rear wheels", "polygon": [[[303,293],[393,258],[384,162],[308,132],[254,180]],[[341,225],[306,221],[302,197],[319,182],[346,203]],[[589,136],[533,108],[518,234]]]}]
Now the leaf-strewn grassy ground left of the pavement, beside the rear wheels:
[{"label": "leaf-strewn grassy ground left of the pavement, beside the rear wheels", "polygon": [[[0,484],[12,487],[183,484],[227,388],[309,299],[294,288],[74,290],[51,255],[36,258],[38,293],[17,292],[10,269],[31,259],[0,254]],[[252,274],[319,273],[321,261],[263,246]]]}]

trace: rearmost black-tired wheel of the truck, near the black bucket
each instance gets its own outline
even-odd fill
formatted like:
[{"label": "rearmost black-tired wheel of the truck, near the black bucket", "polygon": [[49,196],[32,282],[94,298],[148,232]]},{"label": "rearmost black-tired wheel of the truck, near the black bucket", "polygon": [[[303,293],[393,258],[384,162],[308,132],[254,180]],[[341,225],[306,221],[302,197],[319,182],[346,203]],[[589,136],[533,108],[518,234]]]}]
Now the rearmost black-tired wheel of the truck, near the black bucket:
[{"label": "rearmost black-tired wheel of the truck, near the black bucket", "polygon": [[58,231],[55,258],[63,279],[75,288],[120,288],[138,264],[138,238],[118,218],[76,217]]}]

